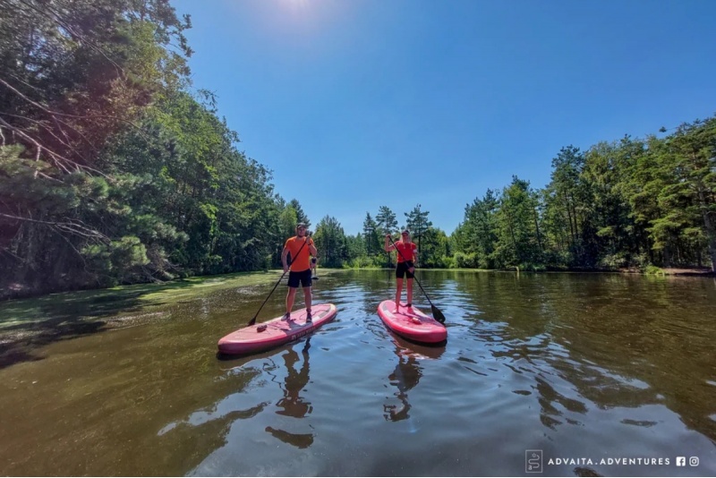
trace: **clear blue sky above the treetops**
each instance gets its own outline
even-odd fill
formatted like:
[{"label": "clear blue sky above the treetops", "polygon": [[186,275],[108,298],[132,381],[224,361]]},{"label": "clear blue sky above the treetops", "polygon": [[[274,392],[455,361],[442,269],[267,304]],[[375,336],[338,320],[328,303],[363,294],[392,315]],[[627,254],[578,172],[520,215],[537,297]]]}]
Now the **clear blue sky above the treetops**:
[{"label": "clear blue sky above the treetops", "polygon": [[276,191],[349,235],[420,203],[451,234],[560,148],[716,113],[716,1],[172,0],[195,89]]}]

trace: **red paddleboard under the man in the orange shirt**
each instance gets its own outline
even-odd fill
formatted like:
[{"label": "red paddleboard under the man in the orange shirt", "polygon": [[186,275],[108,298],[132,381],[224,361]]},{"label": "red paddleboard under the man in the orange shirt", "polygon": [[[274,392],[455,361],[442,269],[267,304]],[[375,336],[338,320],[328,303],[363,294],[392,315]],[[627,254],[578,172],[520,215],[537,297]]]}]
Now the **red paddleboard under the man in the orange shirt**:
[{"label": "red paddleboard under the man in the orange shirt", "polygon": [[306,323],[306,310],[291,312],[291,320],[283,317],[268,320],[238,329],[218,341],[218,351],[222,354],[253,354],[306,336],[336,317],[336,306],[332,303],[319,303],[311,306],[312,322]]}]

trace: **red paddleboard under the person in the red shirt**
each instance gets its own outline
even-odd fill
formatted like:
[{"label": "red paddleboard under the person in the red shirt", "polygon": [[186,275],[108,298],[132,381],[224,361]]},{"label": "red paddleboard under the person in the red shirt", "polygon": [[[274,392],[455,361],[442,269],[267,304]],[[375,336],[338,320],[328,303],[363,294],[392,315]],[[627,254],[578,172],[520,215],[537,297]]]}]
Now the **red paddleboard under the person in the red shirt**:
[{"label": "red paddleboard under the person in the red shirt", "polygon": [[447,340],[447,329],[438,321],[425,315],[415,307],[405,307],[400,304],[397,313],[396,303],[383,301],[379,303],[378,315],[380,319],[400,337],[422,344],[439,344]]}]

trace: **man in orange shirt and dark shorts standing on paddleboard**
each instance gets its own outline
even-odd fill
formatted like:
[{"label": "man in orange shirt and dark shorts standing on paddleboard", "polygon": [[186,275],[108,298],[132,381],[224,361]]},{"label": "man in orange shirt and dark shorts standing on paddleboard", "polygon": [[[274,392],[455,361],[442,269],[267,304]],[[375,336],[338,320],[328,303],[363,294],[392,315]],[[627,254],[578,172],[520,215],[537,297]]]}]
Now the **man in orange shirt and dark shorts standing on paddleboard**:
[{"label": "man in orange shirt and dark shorts standing on paddleboard", "polygon": [[291,309],[294,308],[296,289],[299,283],[303,286],[303,298],[306,303],[306,321],[311,321],[311,266],[309,257],[316,257],[318,251],[313,245],[313,239],[306,236],[306,225],[299,223],[296,226],[296,235],[286,240],[284,251],[281,252],[281,262],[286,273],[289,266],[286,262],[288,253],[291,253],[291,272],[288,273],[288,294],[286,294],[286,314],[284,320],[291,320]]}]

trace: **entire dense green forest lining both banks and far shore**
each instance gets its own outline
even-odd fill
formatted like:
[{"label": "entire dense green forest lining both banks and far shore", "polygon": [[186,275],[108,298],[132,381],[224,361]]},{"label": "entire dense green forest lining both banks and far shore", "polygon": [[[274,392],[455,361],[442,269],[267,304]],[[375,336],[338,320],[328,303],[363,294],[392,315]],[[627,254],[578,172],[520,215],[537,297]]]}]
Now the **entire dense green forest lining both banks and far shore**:
[{"label": "entire dense green forest lining both banks and far shore", "polygon": [[[194,89],[188,16],[167,0],[0,9],[0,298],[278,266],[311,222]],[[544,189],[514,176],[476,197],[451,235],[421,204],[369,211],[358,235],[321,218],[320,264],[390,266],[382,237],[407,226],[424,268],[716,268],[716,117],[551,166]]]}]

